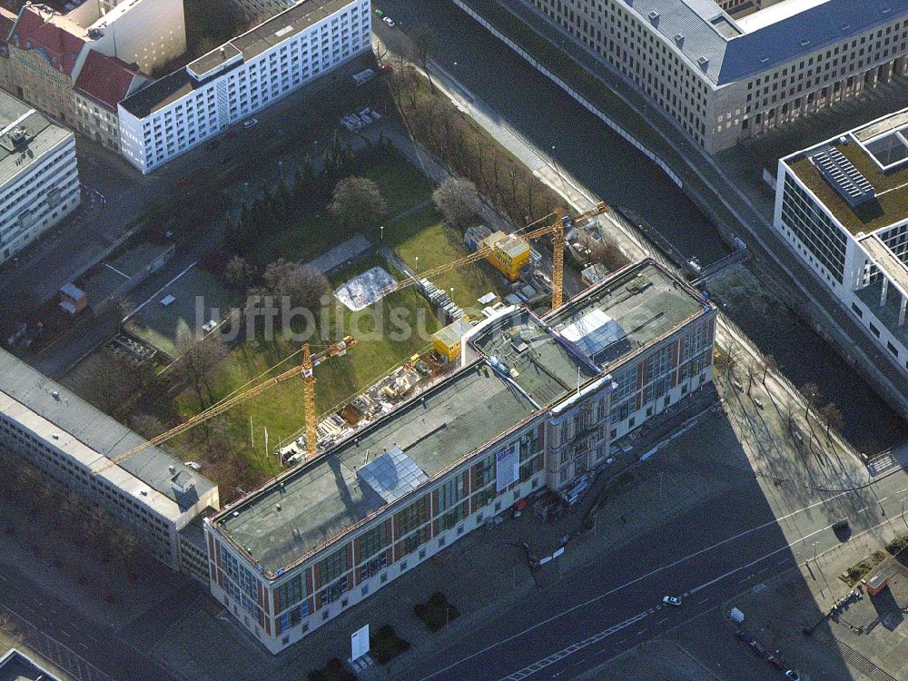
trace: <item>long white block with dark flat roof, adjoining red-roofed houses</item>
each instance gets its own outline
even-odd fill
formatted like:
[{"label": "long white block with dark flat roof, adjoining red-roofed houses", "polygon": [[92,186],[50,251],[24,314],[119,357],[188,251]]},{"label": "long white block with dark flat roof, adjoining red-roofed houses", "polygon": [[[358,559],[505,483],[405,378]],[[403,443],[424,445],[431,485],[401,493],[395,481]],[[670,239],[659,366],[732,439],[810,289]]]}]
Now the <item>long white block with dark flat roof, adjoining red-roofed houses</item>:
[{"label": "long white block with dark flat roof, adjoining red-roofed houses", "polygon": [[306,0],[118,107],[123,156],[148,173],[370,49],[368,0]]}]

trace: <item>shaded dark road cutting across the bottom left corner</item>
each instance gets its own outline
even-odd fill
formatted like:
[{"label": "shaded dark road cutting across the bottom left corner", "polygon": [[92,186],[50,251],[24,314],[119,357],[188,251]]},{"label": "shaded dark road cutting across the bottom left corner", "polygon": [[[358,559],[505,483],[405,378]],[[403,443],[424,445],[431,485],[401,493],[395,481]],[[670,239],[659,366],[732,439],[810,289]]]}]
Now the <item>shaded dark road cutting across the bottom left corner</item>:
[{"label": "shaded dark road cutting across the bottom left corner", "polygon": [[96,627],[15,568],[0,565],[0,594],[5,607],[115,679],[176,681],[151,656]]}]

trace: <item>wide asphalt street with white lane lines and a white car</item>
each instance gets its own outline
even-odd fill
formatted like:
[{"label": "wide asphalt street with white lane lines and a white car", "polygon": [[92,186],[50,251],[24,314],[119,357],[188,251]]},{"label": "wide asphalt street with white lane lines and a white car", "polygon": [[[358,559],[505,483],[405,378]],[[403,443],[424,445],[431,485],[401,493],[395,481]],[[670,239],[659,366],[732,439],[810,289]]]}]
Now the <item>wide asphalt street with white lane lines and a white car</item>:
[{"label": "wide asphalt street with white lane lines and a white car", "polygon": [[[834,548],[842,538],[832,525],[843,508],[860,507],[849,511],[855,533],[902,522],[899,515],[908,492],[904,473],[874,487],[827,494],[795,509],[779,518],[797,520],[797,531],[786,534],[764,491],[754,481],[745,482],[668,520],[632,547],[616,548],[588,571],[571,573],[540,590],[535,603],[496,618],[456,649],[414,669],[413,677],[571,678],[795,568],[813,556],[814,542],[820,553]],[[663,606],[664,596],[681,597],[681,607]],[[842,670],[847,678],[844,663]]]}]

